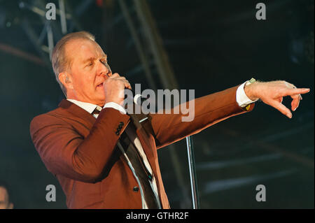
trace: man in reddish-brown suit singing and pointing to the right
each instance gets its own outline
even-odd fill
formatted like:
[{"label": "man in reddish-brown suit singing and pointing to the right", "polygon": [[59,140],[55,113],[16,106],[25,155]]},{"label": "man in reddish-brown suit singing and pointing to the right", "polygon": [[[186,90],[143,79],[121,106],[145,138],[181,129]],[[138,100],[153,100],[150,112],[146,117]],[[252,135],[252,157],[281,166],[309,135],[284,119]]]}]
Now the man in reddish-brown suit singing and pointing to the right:
[{"label": "man in reddish-brown suit singing and pointing to the right", "polygon": [[169,208],[157,149],[196,134],[228,117],[253,110],[260,99],[291,118],[291,110],[309,89],[285,81],[252,79],[237,87],[195,99],[195,118],[151,114],[133,122],[123,107],[126,78],[111,73],[106,54],[94,36],[80,31],[64,36],[52,52],[66,99],[34,117],[30,132],[48,171],[56,176],[68,208]]}]

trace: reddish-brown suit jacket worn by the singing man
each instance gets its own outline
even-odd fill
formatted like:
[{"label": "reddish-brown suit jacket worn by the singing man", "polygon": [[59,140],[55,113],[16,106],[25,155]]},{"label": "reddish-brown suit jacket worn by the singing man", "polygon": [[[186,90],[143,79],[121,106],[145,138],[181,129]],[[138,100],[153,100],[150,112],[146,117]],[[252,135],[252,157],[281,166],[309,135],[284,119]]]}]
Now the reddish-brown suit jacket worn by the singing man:
[{"label": "reddish-brown suit jacket worn by the singing man", "polygon": [[[192,122],[181,122],[181,114],[155,114],[151,115],[152,134],[137,129],[156,178],[162,208],[169,208],[169,201],[157,149],[252,110],[253,104],[247,110],[238,106],[236,90],[232,87],[195,99]],[[141,208],[141,194],[133,191],[139,187],[137,180],[116,147],[120,122],[121,134],[130,122],[129,115],[104,108],[95,119],[67,100],[31,121],[31,139],[48,171],[59,180],[68,208]]]}]

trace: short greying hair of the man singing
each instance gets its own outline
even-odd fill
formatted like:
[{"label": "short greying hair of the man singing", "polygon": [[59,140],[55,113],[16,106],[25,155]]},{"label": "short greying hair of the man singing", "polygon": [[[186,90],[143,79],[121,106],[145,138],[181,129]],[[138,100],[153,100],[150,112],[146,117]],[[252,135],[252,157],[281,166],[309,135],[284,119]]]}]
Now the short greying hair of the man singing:
[{"label": "short greying hair of the man singing", "polygon": [[51,57],[52,69],[55,73],[56,80],[59,83],[60,88],[62,89],[62,92],[64,92],[65,96],[66,87],[64,87],[64,85],[62,85],[62,82],[59,80],[59,73],[69,71],[71,67],[71,62],[69,61],[69,59],[66,58],[64,48],[66,46],[66,43],[74,39],[87,39],[90,41],[95,41],[95,37],[89,32],[77,31],[71,34],[66,34],[66,36],[63,36],[55,45],[54,50],[52,50]]}]

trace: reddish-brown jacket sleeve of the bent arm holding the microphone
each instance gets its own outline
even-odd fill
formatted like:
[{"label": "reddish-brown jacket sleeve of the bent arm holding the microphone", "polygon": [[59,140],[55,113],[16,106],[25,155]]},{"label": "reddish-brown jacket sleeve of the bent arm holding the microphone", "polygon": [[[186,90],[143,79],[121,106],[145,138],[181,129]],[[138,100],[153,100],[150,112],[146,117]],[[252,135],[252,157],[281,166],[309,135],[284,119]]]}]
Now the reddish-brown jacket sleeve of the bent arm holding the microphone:
[{"label": "reddish-brown jacket sleeve of the bent arm holding the microphone", "polygon": [[111,159],[120,134],[116,129],[129,121],[128,115],[104,108],[90,134],[83,138],[61,117],[44,114],[30,124],[31,139],[48,171],[73,180],[96,182]]}]

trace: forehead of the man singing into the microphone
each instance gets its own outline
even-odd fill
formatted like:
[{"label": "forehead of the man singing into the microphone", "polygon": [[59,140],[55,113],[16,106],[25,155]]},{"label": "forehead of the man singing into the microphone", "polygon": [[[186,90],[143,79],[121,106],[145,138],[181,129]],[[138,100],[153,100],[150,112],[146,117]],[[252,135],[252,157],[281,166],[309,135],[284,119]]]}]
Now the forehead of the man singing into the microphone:
[{"label": "forehead of the man singing into the microphone", "polygon": [[65,53],[68,59],[85,59],[89,57],[102,57],[104,51],[94,41],[87,39],[74,39],[65,46]]}]

